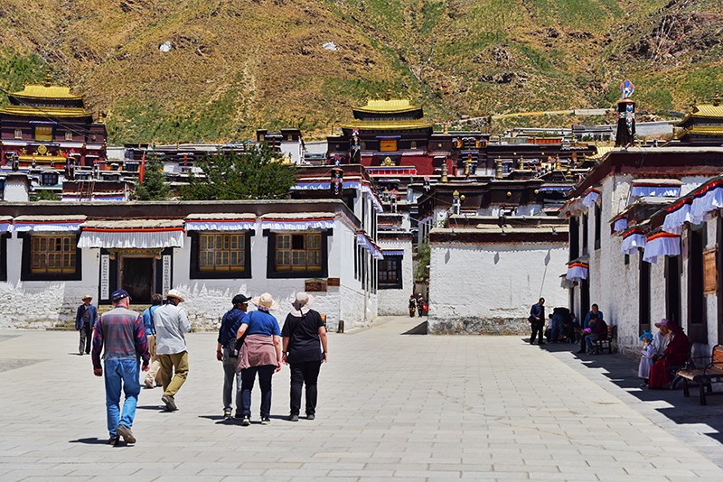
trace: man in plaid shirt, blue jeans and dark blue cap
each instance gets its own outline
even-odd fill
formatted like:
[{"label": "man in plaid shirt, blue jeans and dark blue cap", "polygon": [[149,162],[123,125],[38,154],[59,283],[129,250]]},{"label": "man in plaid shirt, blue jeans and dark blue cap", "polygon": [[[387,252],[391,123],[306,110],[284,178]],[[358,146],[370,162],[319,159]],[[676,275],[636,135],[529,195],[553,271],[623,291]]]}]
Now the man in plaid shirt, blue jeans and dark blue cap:
[{"label": "man in plaid shirt, blue jeans and dark blue cap", "polygon": [[[140,313],[128,310],[130,297],[126,290],[110,295],[113,310],[103,314],[96,323],[93,334],[93,374],[103,376],[106,383],[106,416],[110,445],[116,445],[118,436],[126,443],[136,443],[131,427],[136,417],[136,403],[141,391],[139,358],[143,359],[143,371],[148,371],[148,344],[146,329]],[[100,365],[103,351],[104,366]],[[123,412],[120,411],[120,390],[126,394]]]}]

